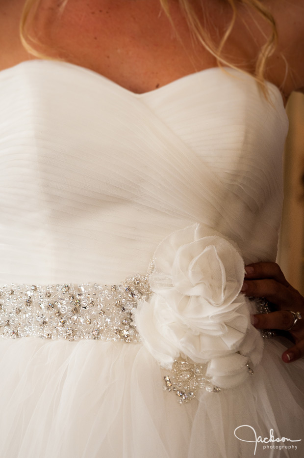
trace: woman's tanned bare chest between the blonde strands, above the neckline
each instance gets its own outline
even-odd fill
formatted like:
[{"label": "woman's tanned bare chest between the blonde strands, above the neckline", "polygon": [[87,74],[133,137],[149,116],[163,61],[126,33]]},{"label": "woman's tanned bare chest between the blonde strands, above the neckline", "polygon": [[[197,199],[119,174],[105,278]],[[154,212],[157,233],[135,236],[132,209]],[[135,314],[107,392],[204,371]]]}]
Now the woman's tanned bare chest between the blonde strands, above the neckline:
[{"label": "woman's tanned bare chest between the blonde strands, above the neckline", "polygon": [[37,27],[47,54],[58,52],[129,91],[144,93],[216,66],[215,58],[193,43],[178,2],[169,3],[176,29],[159,0],[73,0],[61,15],[52,9],[53,0],[43,0]]}]

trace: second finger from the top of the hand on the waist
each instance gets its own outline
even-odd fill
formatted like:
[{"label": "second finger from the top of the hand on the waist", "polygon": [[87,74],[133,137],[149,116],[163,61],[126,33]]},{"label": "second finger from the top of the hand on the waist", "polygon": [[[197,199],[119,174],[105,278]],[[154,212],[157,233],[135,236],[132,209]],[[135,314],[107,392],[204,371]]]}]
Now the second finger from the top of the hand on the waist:
[{"label": "second finger from the top of the hand on the waist", "polygon": [[290,308],[292,297],[289,289],[276,280],[245,280],[241,292],[246,296],[265,297],[273,304]]}]

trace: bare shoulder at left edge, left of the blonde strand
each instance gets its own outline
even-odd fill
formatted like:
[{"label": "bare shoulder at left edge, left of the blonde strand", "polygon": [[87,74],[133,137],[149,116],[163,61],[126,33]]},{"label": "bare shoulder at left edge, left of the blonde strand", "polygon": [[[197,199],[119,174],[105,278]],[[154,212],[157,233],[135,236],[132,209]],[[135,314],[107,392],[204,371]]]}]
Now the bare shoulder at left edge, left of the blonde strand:
[{"label": "bare shoulder at left edge, left of the blonde strand", "polygon": [[25,0],[0,0],[0,70],[30,58],[19,37]]}]

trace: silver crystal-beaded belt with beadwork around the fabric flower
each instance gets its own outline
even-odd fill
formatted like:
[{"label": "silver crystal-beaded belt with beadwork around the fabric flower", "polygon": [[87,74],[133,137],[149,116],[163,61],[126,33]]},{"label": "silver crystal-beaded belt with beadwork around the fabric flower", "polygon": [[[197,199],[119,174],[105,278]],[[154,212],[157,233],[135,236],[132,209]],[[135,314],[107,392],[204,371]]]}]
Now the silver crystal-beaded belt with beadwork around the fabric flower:
[{"label": "silver crystal-beaded belt with beadwork around the fabric flower", "polygon": [[[0,337],[16,339],[99,339],[139,343],[133,320],[140,299],[149,299],[148,275],[127,277],[120,285],[16,285],[0,287]],[[269,312],[267,302],[256,300],[257,313]],[[248,372],[253,370],[248,366]],[[204,365],[182,358],[163,373],[164,389],[179,403],[196,397],[199,388],[219,392],[205,377]]]}]

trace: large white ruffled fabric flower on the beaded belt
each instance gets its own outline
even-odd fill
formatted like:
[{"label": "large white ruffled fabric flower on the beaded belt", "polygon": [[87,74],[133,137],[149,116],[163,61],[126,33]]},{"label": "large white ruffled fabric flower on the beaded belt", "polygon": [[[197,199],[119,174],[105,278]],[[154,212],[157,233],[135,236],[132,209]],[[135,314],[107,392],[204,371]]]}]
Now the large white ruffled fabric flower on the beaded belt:
[{"label": "large white ruffled fabric flower on the beaded belt", "polygon": [[202,224],[177,230],[157,247],[154,294],[135,313],[138,331],[161,367],[178,357],[206,364],[206,376],[230,388],[262,356],[263,339],[251,324],[254,305],[240,292],[244,261],[235,243]]}]

